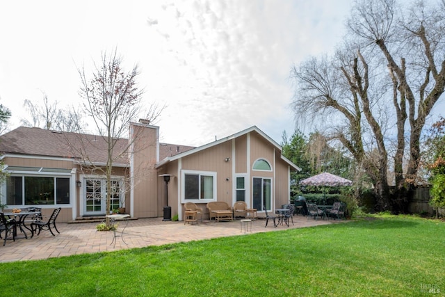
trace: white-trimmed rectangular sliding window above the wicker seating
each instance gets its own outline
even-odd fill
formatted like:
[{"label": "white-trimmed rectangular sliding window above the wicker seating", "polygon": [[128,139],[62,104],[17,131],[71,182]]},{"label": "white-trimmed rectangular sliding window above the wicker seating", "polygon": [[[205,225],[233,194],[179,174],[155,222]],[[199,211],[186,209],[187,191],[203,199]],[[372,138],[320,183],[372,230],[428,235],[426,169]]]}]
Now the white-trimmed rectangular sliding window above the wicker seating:
[{"label": "white-trimmed rectangular sliding window above the wicker seating", "polygon": [[182,172],[182,197],[187,202],[216,200],[216,172]]}]

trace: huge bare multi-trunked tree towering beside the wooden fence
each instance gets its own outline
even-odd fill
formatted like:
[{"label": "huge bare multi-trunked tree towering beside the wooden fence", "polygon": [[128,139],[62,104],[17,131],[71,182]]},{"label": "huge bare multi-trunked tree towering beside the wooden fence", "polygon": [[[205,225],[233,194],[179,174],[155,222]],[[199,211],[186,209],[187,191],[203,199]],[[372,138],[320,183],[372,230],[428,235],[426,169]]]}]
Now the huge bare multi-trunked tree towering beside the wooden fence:
[{"label": "huge bare multi-trunked tree towering beside the wooden fence", "polygon": [[405,190],[419,170],[421,131],[445,88],[444,26],[443,1],[405,7],[394,0],[357,0],[337,54],[293,68],[296,112],[332,115],[325,133],[341,141],[369,175],[378,209],[407,206]]}]

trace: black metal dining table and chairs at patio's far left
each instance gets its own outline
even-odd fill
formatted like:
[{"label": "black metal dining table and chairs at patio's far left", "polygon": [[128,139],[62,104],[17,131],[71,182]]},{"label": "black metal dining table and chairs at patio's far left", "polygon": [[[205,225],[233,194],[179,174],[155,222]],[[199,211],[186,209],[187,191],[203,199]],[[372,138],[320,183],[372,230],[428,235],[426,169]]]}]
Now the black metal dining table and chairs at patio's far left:
[{"label": "black metal dining table and chairs at patio's far left", "polygon": [[[56,230],[56,218],[60,213],[60,208],[54,209],[51,216],[44,220],[42,216],[42,209],[38,207],[26,207],[23,209],[14,209],[13,212],[0,212],[0,239],[3,239],[2,233],[4,231],[3,246],[6,245],[8,239],[28,239],[28,234],[31,233],[31,238],[35,233],[40,234],[42,230],[48,230],[55,236],[53,230]],[[26,231],[27,230],[27,231]],[[22,233],[18,236],[17,232]]]}]

